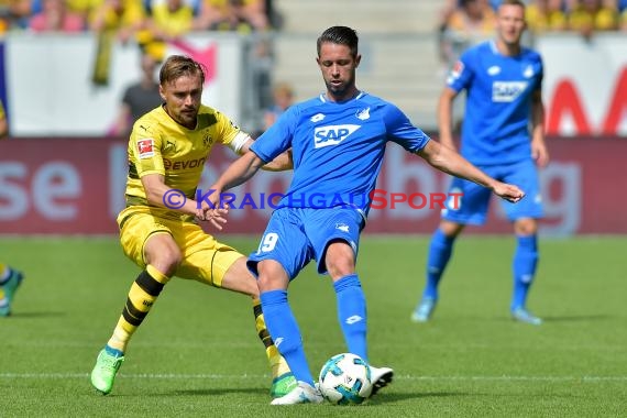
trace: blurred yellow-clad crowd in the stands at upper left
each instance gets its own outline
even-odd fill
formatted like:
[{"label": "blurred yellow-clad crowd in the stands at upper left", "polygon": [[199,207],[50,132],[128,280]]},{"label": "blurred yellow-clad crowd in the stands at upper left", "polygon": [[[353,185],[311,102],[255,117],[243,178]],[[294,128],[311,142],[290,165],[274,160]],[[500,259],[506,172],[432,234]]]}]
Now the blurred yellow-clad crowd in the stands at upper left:
[{"label": "blurred yellow-clad crowd in the stands at upper left", "polygon": [[114,33],[163,59],[164,42],[194,31],[264,32],[280,24],[270,0],[3,0],[0,33]]}]

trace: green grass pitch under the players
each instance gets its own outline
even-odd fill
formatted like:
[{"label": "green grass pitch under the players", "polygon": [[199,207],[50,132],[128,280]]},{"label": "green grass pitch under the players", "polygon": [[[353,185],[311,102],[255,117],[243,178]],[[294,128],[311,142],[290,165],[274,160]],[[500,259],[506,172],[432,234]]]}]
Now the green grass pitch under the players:
[{"label": "green grass pitch under the players", "polygon": [[[244,253],[256,238],[224,237]],[[113,392],[89,372],[138,274],[116,238],[0,239],[26,278],[0,318],[0,417],[625,417],[627,238],[542,240],[529,308],[508,316],[510,237],[464,235],[435,318],[409,321],[427,237],[362,237],[370,358],[394,383],[353,407],[271,407],[245,296],[174,279],[134,336]],[[344,351],[330,280],[310,265],[290,302],[315,374]]]}]

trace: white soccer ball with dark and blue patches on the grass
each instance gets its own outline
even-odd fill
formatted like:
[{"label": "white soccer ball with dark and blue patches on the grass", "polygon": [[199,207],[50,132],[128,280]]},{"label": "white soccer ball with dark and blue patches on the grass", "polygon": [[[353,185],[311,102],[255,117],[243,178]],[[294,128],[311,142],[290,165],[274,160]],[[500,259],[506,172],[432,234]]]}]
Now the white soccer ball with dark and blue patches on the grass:
[{"label": "white soccer ball with dark and blue patches on the grass", "polygon": [[363,403],[372,393],[371,369],[365,360],[351,353],[333,355],[320,371],[319,387],[331,404]]}]

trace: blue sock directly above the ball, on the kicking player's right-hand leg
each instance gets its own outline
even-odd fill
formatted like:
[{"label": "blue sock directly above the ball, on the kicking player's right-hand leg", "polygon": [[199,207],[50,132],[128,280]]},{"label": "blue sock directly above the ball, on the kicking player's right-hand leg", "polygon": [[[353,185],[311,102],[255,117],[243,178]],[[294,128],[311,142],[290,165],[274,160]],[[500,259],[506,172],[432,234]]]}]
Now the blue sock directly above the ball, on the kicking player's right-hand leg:
[{"label": "blue sock directly above the ball, on the kicking player's right-hand leg", "polygon": [[366,304],[356,274],[350,274],[333,283],[338,300],[338,321],[344,333],[349,352],[367,361]]}]

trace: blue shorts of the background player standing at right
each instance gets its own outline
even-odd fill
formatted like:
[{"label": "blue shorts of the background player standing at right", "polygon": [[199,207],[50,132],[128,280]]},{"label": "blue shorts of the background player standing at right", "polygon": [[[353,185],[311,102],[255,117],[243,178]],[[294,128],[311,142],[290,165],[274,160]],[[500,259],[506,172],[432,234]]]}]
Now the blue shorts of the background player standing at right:
[{"label": "blue shorts of the background player standing at right", "polygon": [[[484,173],[499,182],[518,186],[525,191],[525,198],[517,204],[501,200],[507,219],[515,221],[521,218],[542,218],[542,198],[538,169],[532,160],[508,165],[479,166]],[[461,194],[453,199],[449,195],[447,209],[442,210],[442,219],[462,223],[482,226],[487,218],[487,209],[492,191],[475,183],[454,177],[449,194]]]}]

